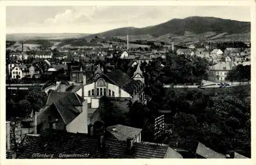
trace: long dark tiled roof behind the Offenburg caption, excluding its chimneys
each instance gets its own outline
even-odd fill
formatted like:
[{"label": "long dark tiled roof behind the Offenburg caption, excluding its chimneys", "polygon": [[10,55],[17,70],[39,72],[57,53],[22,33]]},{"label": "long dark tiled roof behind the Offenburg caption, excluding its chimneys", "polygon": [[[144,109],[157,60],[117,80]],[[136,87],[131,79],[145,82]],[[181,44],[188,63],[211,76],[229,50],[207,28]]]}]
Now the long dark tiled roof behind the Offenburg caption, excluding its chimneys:
[{"label": "long dark tiled roof behind the Offenburg caption, excluding its chimneys", "polygon": [[[105,140],[104,143],[105,148],[102,150],[97,145],[97,139],[87,134],[48,129],[31,142],[18,158],[33,158],[33,153],[53,154],[53,158],[59,158],[60,153],[89,154],[88,157],[80,158],[164,158],[169,149],[167,145],[134,142],[134,153],[127,154],[125,141]],[[173,158],[181,158],[172,155]]]}]

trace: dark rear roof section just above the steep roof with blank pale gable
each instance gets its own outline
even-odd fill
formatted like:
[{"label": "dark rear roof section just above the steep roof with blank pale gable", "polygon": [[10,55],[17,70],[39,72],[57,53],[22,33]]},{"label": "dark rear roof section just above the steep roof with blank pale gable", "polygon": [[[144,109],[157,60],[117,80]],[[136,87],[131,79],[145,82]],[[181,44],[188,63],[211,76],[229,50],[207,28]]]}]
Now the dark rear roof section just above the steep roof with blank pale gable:
[{"label": "dark rear roof section just above the steep roof with blank pale gable", "polygon": [[48,96],[46,105],[51,105],[53,102],[56,102],[63,97],[68,97],[75,106],[81,106],[81,103],[84,101],[74,92],[51,92]]}]

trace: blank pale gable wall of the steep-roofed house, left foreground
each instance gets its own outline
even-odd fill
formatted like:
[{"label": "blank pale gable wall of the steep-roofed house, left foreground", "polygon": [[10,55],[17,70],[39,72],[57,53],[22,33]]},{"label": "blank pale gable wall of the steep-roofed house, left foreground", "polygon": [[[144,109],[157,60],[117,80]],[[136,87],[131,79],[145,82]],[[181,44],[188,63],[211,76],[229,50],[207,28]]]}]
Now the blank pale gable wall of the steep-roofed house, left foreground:
[{"label": "blank pale gable wall of the steep-roofed house, left foreground", "polygon": [[88,102],[84,100],[82,102],[82,113],[80,113],[69,125],[66,126],[68,132],[73,133],[87,133],[88,125]]}]

